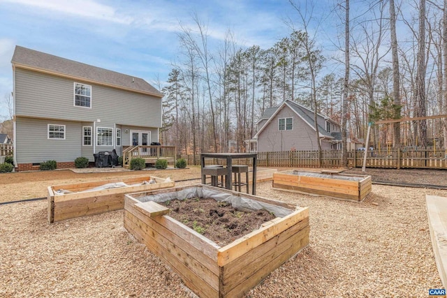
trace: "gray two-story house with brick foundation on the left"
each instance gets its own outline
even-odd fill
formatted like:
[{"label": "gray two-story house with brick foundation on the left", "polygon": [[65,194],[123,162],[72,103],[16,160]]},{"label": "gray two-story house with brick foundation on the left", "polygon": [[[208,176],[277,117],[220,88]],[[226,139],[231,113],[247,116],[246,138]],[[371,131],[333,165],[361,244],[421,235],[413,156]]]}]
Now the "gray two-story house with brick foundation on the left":
[{"label": "gray two-story house with brick foundation on the left", "polygon": [[17,170],[158,142],[163,94],[145,80],[20,46],[11,63]]}]

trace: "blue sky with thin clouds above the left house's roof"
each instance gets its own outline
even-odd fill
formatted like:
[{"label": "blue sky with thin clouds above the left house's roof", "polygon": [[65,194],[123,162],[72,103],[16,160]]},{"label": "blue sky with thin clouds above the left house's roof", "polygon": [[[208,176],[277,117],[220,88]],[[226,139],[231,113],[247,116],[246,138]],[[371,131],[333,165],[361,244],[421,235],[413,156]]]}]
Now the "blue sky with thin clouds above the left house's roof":
[{"label": "blue sky with thin clouds above the left house's roof", "polygon": [[288,0],[0,0],[0,119],[15,45],[163,83],[193,14],[214,43],[230,29],[240,44],[268,48],[290,33],[291,10]]}]

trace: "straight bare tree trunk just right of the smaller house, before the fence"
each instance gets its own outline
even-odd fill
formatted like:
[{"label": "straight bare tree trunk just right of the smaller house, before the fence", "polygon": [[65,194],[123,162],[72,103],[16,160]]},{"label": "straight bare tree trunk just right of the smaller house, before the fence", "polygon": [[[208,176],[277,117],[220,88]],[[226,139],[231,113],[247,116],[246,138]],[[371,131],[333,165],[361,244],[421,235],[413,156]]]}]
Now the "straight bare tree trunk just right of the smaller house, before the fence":
[{"label": "straight bare tree trunk just right of the smaller house, before the fence", "polygon": [[[342,105],[342,166],[348,167],[348,144],[346,117],[348,112],[349,93],[349,0],[345,1],[345,24],[344,24],[344,84],[343,84],[343,105]],[[365,146],[369,146],[365,144]]]}]

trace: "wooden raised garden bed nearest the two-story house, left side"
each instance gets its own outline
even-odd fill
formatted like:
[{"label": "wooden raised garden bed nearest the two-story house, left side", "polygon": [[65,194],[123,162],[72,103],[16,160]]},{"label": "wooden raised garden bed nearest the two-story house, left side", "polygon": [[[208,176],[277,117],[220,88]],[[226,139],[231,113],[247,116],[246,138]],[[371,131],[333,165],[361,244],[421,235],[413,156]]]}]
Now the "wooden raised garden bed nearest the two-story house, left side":
[{"label": "wooden raised garden bed nearest the two-story house, left side", "polygon": [[[142,184],[143,181],[153,179],[155,184]],[[124,182],[129,186],[119,188],[109,188],[101,191],[87,191],[91,188]],[[165,179],[141,176],[128,179],[115,179],[85,182],[78,184],[64,184],[48,186],[48,222],[64,221],[68,218],[101,214],[107,211],[114,211],[124,208],[124,194],[135,191],[149,191],[160,188],[170,188],[174,186],[173,181]],[[63,189],[73,193],[57,194]]]}]

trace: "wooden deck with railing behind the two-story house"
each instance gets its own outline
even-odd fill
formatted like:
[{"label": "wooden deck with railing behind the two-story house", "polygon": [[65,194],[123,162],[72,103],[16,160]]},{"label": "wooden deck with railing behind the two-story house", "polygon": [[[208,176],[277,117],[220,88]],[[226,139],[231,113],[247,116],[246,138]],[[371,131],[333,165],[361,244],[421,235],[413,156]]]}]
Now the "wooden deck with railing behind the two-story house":
[{"label": "wooden deck with railing behind the two-story house", "polygon": [[147,164],[155,165],[158,159],[165,159],[175,165],[175,146],[129,146],[123,147],[123,167],[128,169],[132,158],[143,158]]}]

